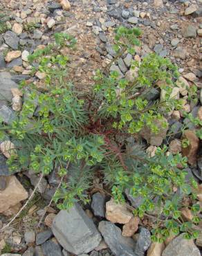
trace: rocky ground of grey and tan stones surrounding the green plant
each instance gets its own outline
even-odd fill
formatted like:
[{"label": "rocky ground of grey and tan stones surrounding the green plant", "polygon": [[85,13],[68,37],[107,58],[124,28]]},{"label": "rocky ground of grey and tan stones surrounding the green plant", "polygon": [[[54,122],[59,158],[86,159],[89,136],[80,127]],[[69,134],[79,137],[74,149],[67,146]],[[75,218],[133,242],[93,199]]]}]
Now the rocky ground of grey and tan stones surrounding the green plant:
[{"label": "rocky ground of grey and tan stones surrounding the green plant", "polygon": [[[0,3],[0,116],[3,121],[9,122],[15,111],[21,110],[23,95],[17,89],[19,82],[33,80],[37,84],[43,79],[42,73],[31,76],[28,55],[50,43],[55,32],[69,33],[77,39],[77,49],[70,55],[69,80],[78,89],[88,90],[93,84],[91,77],[95,69],[105,67],[107,60],[114,57],[111,47],[113,28],[120,25],[138,26],[143,30],[142,46],[136,48],[136,60],[140,61],[154,51],[178,65],[180,80],[187,86],[196,84],[199,91],[196,105],[187,103],[185,90],[178,91],[176,95],[179,97],[181,94],[184,98],[187,113],[198,115],[202,120],[201,0],[62,0],[60,3],[52,0],[4,0]],[[129,78],[130,63],[131,56],[128,55],[112,69]],[[176,131],[183,125],[182,117],[180,111],[174,111],[169,119],[169,124],[175,125]],[[192,129],[190,126],[186,134],[191,145],[183,154],[189,163],[194,164],[200,183],[202,158],[199,153],[196,165],[199,139]],[[147,134],[145,139],[149,144],[147,151],[154,154],[159,138]],[[160,144],[162,140],[163,133]],[[21,208],[39,181],[39,176],[30,171],[10,175],[6,165],[8,145],[12,147],[9,141],[0,145],[0,228],[6,226]],[[173,154],[182,151],[178,138],[171,141],[169,151]],[[149,230],[140,225],[140,220],[133,217],[125,205],[117,205],[113,199],[98,192],[100,184],[95,185],[92,201],[85,208],[75,205],[69,212],[58,212],[54,205],[47,207],[58,183],[54,171],[43,178],[26,209],[10,227],[0,232],[2,255],[201,255],[202,233],[196,241],[186,241],[180,235],[165,244],[151,244]],[[202,202],[202,187],[200,190],[199,201]],[[129,201],[133,204],[130,197]],[[44,212],[45,219],[37,227]],[[189,212],[185,211],[185,216],[188,215]]]}]

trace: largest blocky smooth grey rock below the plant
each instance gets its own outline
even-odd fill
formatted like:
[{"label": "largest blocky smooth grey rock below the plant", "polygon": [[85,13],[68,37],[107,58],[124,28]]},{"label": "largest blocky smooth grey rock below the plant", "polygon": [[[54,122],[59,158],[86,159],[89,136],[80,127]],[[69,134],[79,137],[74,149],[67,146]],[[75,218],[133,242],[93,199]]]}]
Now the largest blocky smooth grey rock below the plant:
[{"label": "largest blocky smooth grey rock below the plant", "polygon": [[102,239],[92,219],[77,203],[70,210],[61,210],[57,214],[52,231],[59,244],[76,255],[89,253]]}]

